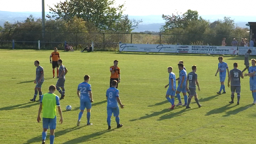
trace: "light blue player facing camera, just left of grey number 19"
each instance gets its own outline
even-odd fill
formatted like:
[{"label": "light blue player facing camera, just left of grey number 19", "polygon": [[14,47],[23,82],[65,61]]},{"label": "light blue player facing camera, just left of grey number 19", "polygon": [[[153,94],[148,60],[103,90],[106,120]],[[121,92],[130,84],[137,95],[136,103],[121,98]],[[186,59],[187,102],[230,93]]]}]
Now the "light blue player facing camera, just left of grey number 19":
[{"label": "light blue player facing camera, just left of grey number 19", "polygon": [[220,72],[220,91],[217,92],[217,94],[221,94],[221,91],[223,89],[223,93],[226,93],[226,90],[225,90],[225,85],[224,85],[224,81],[225,81],[225,78],[226,78],[226,72],[228,71],[228,75],[229,75],[229,70],[228,70],[228,64],[223,62],[223,57],[219,57],[218,58],[219,60],[219,64],[218,64],[218,70],[215,74],[215,76],[217,76],[217,73]]}]

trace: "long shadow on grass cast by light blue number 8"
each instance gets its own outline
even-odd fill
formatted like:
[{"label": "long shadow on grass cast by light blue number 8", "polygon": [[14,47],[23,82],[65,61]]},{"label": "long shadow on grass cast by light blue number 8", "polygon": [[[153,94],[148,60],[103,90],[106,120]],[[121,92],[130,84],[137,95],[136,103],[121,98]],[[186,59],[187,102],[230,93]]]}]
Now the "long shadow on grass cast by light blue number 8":
[{"label": "long shadow on grass cast by light blue number 8", "polygon": [[[116,129],[116,128],[114,128],[114,129]],[[81,136],[81,137],[69,140],[67,142],[64,142],[63,144],[77,144],[77,143],[82,143],[82,142],[90,141],[90,140],[92,140],[92,138],[100,136],[100,135],[103,135],[104,133],[107,133],[107,132],[111,132],[114,129],[103,130],[103,131],[96,132],[96,133],[93,133],[93,134],[90,134],[90,135],[84,135],[84,136]],[[97,138],[94,138],[94,139],[97,139]]]}]

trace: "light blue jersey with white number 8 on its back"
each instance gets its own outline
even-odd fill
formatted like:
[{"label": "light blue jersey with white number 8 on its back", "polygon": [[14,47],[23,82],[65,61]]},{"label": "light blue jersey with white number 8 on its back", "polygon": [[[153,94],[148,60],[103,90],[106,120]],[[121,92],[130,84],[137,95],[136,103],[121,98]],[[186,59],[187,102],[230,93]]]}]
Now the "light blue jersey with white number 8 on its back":
[{"label": "light blue jersey with white number 8 on its back", "polygon": [[118,102],[116,100],[116,97],[119,97],[119,90],[114,88],[114,87],[110,87],[107,90],[106,96],[108,97],[108,105],[107,107],[118,107]]}]

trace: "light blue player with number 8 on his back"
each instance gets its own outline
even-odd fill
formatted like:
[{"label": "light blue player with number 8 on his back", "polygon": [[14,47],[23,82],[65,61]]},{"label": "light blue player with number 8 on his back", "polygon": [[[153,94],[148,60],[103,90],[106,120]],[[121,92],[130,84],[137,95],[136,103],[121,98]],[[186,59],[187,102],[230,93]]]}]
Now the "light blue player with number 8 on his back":
[{"label": "light blue player with number 8 on his back", "polygon": [[119,118],[119,107],[118,103],[121,108],[124,108],[124,105],[121,103],[121,100],[119,98],[119,90],[116,89],[117,86],[117,81],[113,80],[111,82],[111,87],[107,89],[107,122],[108,122],[108,130],[111,129],[110,123],[111,123],[111,116],[112,113],[116,117],[116,123],[117,123],[117,128],[121,128],[123,124],[120,124],[120,118]]}]

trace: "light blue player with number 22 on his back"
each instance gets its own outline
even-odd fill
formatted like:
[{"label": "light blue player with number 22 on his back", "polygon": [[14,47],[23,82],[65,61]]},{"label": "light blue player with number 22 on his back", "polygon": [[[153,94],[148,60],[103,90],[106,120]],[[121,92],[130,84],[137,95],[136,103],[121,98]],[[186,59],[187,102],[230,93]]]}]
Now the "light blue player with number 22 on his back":
[{"label": "light blue player with number 22 on his back", "polygon": [[84,76],[84,82],[80,83],[77,88],[77,96],[80,99],[80,113],[78,115],[77,126],[80,126],[81,117],[83,115],[84,109],[87,111],[87,125],[92,125],[90,123],[91,117],[91,107],[92,107],[92,89],[91,85],[88,83],[90,80],[89,75]]}]

